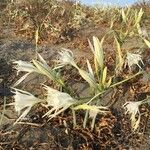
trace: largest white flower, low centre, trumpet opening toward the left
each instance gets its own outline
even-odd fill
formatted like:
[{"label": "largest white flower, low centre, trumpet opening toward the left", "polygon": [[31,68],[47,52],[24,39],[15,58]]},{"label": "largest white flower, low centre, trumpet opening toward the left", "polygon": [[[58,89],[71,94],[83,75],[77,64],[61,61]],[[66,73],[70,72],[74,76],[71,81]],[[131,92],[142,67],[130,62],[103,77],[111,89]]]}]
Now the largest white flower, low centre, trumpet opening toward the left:
[{"label": "largest white flower, low centre, trumpet opening toward the left", "polygon": [[52,109],[50,109],[44,115],[48,116],[49,119],[65,111],[67,108],[69,108],[72,104],[76,102],[76,100],[73,99],[68,93],[60,92],[46,85],[44,85],[44,88],[47,90],[46,107],[52,106]]}]

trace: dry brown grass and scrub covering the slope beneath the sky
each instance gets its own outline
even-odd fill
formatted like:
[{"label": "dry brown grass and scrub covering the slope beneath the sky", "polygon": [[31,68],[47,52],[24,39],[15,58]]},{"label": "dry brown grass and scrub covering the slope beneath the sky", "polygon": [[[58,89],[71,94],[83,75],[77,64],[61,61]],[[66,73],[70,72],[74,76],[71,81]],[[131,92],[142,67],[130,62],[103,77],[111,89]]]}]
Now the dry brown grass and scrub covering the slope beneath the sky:
[{"label": "dry brown grass and scrub covering the slope beneath the sky", "polygon": [[[136,4],[133,11],[139,10],[141,6],[143,4]],[[143,10],[143,22],[147,26],[149,5],[144,4]],[[5,14],[2,18],[3,25],[13,25],[16,35],[33,40],[38,29],[40,42],[61,43],[72,41],[79,36],[79,31],[90,26],[109,28],[113,22],[114,27],[119,30],[122,28],[120,11],[121,8],[118,7],[89,7],[73,1],[22,0],[3,3],[1,13]]]}]

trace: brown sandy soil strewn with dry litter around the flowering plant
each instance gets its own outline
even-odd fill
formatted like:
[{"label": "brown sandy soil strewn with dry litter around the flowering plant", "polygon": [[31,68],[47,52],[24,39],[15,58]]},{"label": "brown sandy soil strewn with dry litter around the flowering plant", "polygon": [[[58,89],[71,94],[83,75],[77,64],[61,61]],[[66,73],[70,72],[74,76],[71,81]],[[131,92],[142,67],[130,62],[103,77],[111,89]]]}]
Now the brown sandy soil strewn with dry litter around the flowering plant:
[{"label": "brown sandy soil strewn with dry litter around the flowering plant", "polygon": [[[62,42],[59,44],[41,43],[38,52],[45,60],[52,63],[57,57],[57,52],[61,48],[70,48],[75,54],[78,63],[84,66],[87,58],[92,59],[92,52],[87,43],[87,38],[93,35],[103,37],[106,27],[86,27],[78,31],[78,36],[72,41]],[[35,57],[34,42],[29,41],[26,37],[16,36],[11,27],[3,27],[0,36],[0,149],[4,150],[149,150],[150,149],[150,106],[142,106],[143,112],[140,130],[138,133],[132,133],[129,118],[122,111],[122,104],[128,100],[142,100],[150,95],[150,79],[146,75],[140,76],[134,80],[128,81],[122,86],[113,89],[103,98],[106,103],[110,104],[110,99],[114,102],[111,107],[111,113],[101,116],[96,120],[94,131],[90,130],[89,125],[83,129],[84,113],[81,111],[77,114],[78,125],[73,128],[72,115],[69,110],[62,115],[47,121],[42,118],[46,111],[41,106],[35,107],[27,116],[26,121],[22,124],[13,126],[13,122],[17,118],[14,108],[6,106],[3,110],[4,100],[6,103],[12,102],[13,93],[10,87],[19,78],[13,69],[12,60],[30,61]],[[138,43],[139,44],[139,43]],[[140,47],[137,41],[128,42],[124,48],[137,49]],[[104,46],[105,54],[111,57],[113,55],[113,47],[111,44]],[[144,60],[144,69],[150,72],[150,50],[145,49],[142,53]],[[109,63],[109,59],[108,62]],[[109,65],[109,64],[108,64]],[[111,68],[111,65],[110,65]],[[73,74],[71,72],[70,74]],[[71,75],[70,75],[71,76]],[[68,77],[69,79],[70,77]],[[75,76],[75,79],[78,77]],[[38,78],[36,75],[30,76],[24,81],[23,88],[28,90],[37,87],[37,83],[47,80],[44,77]],[[119,80],[119,79],[118,79]],[[30,85],[28,82],[30,82]],[[73,83],[75,87],[82,90],[81,96],[87,95],[86,86],[83,83]],[[40,90],[34,91],[40,94]],[[111,101],[111,102],[112,102]],[[3,115],[4,113],[4,115]]]}]

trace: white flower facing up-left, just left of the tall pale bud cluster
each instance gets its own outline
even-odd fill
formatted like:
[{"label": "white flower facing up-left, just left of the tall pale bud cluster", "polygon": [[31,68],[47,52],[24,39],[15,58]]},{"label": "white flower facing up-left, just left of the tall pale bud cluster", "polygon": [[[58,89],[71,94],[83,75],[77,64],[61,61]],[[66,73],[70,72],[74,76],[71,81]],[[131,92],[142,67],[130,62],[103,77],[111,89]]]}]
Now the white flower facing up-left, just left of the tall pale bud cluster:
[{"label": "white flower facing up-left, just left of the tall pale bud cluster", "polygon": [[60,51],[58,53],[59,53],[58,62],[60,63],[59,64],[60,66],[70,64],[70,65],[74,66],[75,68],[77,68],[72,51],[70,51],[68,49],[63,49],[62,51]]}]

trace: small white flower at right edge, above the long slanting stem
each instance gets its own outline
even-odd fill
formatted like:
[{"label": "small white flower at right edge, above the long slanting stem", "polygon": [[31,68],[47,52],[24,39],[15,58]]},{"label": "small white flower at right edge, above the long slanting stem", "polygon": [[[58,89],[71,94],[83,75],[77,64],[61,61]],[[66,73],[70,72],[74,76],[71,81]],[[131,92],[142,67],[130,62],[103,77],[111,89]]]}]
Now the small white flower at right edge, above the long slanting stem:
[{"label": "small white flower at right edge, above the long slanting stem", "polygon": [[133,65],[137,65],[140,69],[142,69],[141,66],[139,65],[139,62],[141,62],[144,65],[142,61],[142,56],[140,54],[133,54],[128,52],[126,59],[127,59],[126,63],[128,64],[130,70],[131,66]]}]

